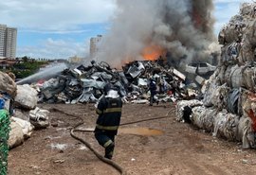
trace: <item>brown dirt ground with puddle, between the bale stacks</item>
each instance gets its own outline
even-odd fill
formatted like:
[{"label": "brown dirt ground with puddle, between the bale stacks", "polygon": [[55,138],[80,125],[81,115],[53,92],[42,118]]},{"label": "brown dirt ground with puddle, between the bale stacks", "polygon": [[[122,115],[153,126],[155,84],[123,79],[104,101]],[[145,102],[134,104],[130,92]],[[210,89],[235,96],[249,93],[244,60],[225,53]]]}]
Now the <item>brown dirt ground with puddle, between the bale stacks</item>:
[{"label": "brown dirt ground with puddle, between the bale stacks", "polygon": [[[94,128],[97,115],[94,104],[40,104],[50,110],[51,126],[33,131],[20,147],[9,151],[9,175],[116,175],[112,166],[102,163],[89,149],[70,136],[70,129],[80,122],[82,128]],[[61,112],[52,110],[53,108]],[[213,138],[189,124],[175,121],[174,106],[126,104],[121,123],[165,116],[120,128],[150,128],[161,135],[119,133],[113,160],[132,175],[248,175],[256,174],[255,149],[241,149],[241,144]],[[68,115],[72,114],[72,115]],[[76,132],[103,154],[92,132]]]}]

